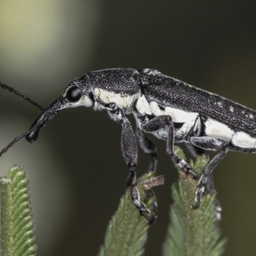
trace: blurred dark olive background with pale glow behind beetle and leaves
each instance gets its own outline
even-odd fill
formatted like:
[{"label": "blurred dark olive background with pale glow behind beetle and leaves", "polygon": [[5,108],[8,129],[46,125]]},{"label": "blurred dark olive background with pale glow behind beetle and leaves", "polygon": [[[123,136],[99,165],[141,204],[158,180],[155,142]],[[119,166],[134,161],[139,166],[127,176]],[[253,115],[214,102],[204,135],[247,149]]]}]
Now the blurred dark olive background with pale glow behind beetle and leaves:
[{"label": "blurred dark olive background with pale glow behind beetle and leaves", "polygon": [[[47,106],[68,81],[90,70],[156,68],[256,109],[255,7],[241,0],[0,0],[0,81]],[[1,90],[0,148],[27,131],[39,113]],[[36,143],[22,140],[1,157],[1,176],[15,163],[28,172],[38,255],[99,252],[129,174],[120,134],[121,125],[106,111],[68,109]],[[159,216],[147,256],[161,253],[170,187],[178,177],[166,143],[153,140],[165,185],[155,189]],[[148,164],[140,150],[138,176]],[[228,238],[224,255],[256,253],[255,166],[255,155],[229,152],[214,170],[220,227]]]}]

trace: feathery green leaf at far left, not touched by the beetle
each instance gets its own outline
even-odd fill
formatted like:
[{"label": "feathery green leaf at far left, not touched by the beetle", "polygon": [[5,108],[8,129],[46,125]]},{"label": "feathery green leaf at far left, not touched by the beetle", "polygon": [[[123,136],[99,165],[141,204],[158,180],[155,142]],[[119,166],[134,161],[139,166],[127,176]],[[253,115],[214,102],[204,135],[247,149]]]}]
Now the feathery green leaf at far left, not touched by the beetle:
[{"label": "feathery green leaf at far left, not touched by the beetle", "polygon": [[0,179],[0,253],[4,256],[36,254],[35,224],[26,172],[13,166],[8,177]]}]

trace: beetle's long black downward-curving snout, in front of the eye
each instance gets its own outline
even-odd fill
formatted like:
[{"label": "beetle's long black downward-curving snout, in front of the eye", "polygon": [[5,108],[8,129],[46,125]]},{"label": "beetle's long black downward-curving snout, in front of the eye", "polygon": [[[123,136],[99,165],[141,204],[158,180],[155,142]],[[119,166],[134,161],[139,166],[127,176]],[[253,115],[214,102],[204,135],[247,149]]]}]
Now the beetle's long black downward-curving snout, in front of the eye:
[{"label": "beetle's long black downward-curving snout, in front of the eye", "polygon": [[26,136],[26,140],[29,141],[30,143],[34,142],[37,140],[38,138],[38,134],[40,129],[50,120],[52,120],[52,118],[54,118],[54,116],[60,112],[62,109],[67,108],[67,105],[65,107],[66,104],[63,104],[63,99],[59,98],[58,100],[55,100],[54,102],[52,102],[52,104],[45,109],[45,111],[43,113],[41,113],[38,118],[36,118],[35,122],[33,122],[33,124],[31,125],[31,127],[29,128],[29,134]]}]

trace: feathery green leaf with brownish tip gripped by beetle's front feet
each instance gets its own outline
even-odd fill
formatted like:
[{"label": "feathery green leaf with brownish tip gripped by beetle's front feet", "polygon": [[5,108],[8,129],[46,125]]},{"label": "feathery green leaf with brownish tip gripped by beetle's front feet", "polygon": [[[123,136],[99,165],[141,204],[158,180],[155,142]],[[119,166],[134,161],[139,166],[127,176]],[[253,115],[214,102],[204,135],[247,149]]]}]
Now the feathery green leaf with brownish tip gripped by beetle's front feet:
[{"label": "feathery green leaf with brownish tip gripped by beetle's front feet", "polygon": [[[154,173],[143,175],[137,182],[141,200],[147,207],[154,202],[154,198],[146,198],[146,189],[163,184],[163,176],[154,177]],[[147,239],[148,224],[140,216],[134,202],[131,200],[129,189],[120,200],[118,210],[109,223],[105,242],[100,248],[99,256],[140,256],[144,252]]]}]

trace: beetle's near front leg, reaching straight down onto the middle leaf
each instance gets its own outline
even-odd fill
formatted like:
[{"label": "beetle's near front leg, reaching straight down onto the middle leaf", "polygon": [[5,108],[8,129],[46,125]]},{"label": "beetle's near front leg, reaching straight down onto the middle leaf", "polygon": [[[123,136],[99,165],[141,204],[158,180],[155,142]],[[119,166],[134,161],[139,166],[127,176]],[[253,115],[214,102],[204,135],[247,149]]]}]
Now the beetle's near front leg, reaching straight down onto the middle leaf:
[{"label": "beetle's near front leg, reaching straight down onto the middle leaf", "polygon": [[134,132],[132,131],[132,126],[129,120],[123,115],[122,116],[122,154],[124,156],[125,162],[130,169],[130,175],[127,179],[127,185],[131,189],[131,198],[140,211],[140,214],[144,216],[148,224],[153,224],[156,221],[156,212],[150,216],[150,210],[147,206],[141,202],[140,193],[136,188],[136,164],[138,157],[138,149],[136,145],[136,138]]}]

